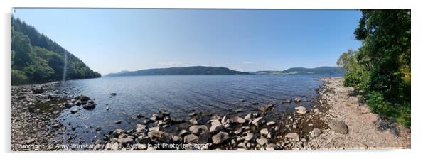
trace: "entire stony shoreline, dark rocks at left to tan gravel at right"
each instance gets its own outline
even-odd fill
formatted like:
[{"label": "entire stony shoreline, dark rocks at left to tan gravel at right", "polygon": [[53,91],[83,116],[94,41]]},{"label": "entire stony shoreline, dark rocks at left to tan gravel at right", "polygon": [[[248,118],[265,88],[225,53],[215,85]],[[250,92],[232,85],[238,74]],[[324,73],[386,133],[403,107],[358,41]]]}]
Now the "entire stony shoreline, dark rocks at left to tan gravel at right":
[{"label": "entire stony shoreline, dark rocks at left to tan gravel at right", "polygon": [[[58,136],[61,138],[74,130],[57,118],[62,111],[75,114],[82,109],[95,109],[94,99],[84,95],[60,96],[55,92],[55,83],[13,87],[12,150],[410,148],[410,130],[376,118],[356,97],[349,95],[351,88],[341,86],[341,78],[320,80],[325,84],[318,89],[318,97],[311,101],[310,107],[299,106],[301,99],[296,98],[246,112],[242,109],[232,110],[230,114],[194,111],[185,119],[174,119],[166,110],[151,116],[137,114],[140,120],[135,128],[106,132],[102,139],[92,143],[80,141],[78,143],[85,145],[80,148],[61,146],[64,143]],[[296,103],[295,113],[267,115],[272,114],[269,111],[274,106],[291,103]],[[75,143],[79,138],[69,136],[65,140],[65,143]]]}]

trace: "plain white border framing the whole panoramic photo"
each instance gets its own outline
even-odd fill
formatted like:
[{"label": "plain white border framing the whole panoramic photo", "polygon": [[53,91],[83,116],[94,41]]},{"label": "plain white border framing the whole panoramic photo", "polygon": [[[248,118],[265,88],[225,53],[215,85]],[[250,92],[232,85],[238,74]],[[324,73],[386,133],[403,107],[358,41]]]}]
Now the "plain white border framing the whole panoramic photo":
[{"label": "plain white border framing the whole panoramic photo", "polygon": [[[423,1],[401,0],[16,0],[1,1],[1,133],[3,158],[412,158],[427,148],[427,6]],[[119,153],[13,153],[11,144],[11,7],[85,7],[85,8],[244,8],[244,9],[412,9],[412,149],[411,150],[294,150],[294,151],[194,151],[194,152],[119,152]],[[123,156],[126,155],[126,156]],[[131,156],[129,156],[131,155]],[[426,157],[426,156],[424,156]]]}]

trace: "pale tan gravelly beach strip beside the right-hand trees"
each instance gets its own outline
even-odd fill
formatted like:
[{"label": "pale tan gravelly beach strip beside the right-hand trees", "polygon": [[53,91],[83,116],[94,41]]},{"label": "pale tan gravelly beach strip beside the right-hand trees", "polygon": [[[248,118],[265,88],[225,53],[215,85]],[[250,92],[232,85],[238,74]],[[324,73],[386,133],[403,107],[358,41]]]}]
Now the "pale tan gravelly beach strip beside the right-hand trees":
[{"label": "pale tan gravelly beach strip beside the right-hand trees", "polygon": [[312,149],[392,149],[410,148],[410,129],[380,119],[365,104],[358,103],[350,95],[352,88],[343,87],[343,78],[331,77],[321,79],[326,82],[319,92],[321,100],[330,109],[324,117],[328,124],[331,120],[343,121],[348,126],[348,133],[341,134],[330,128],[321,130],[319,136],[312,136],[308,147]]}]

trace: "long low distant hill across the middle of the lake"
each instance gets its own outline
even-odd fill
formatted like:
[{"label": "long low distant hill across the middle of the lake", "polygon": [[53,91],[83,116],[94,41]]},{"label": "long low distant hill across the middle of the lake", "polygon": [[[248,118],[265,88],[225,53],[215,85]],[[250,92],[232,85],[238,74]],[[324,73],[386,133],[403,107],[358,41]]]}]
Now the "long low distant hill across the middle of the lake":
[{"label": "long low distant hill across the middle of the lake", "polygon": [[230,70],[226,67],[170,67],[170,68],[153,68],[138,71],[122,71],[118,73],[110,73],[104,77],[114,76],[139,76],[139,75],[251,75],[248,72],[239,72]]}]

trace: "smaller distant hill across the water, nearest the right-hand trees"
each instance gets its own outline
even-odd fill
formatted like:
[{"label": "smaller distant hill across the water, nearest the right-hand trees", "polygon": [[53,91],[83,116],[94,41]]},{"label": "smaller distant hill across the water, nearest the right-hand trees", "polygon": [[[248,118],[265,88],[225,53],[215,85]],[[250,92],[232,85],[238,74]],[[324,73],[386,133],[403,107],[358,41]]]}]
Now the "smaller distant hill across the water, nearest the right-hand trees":
[{"label": "smaller distant hill across the water, nearest the right-hand trees", "polygon": [[341,74],[343,70],[339,67],[316,67],[316,68],[304,68],[304,67],[293,67],[282,71],[284,74]]}]

